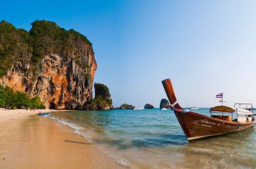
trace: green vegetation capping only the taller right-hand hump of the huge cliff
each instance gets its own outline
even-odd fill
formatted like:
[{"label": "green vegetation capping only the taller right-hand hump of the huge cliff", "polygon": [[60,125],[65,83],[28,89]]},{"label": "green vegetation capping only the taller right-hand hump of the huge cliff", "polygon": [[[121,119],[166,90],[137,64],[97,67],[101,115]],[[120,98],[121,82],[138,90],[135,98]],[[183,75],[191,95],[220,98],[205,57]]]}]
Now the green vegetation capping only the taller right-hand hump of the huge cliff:
[{"label": "green vegetation capping only the taller right-hand hump of the huge cliff", "polygon": [[29,44],[33,48],[32,62],[40,61],[48,53],[82,55],[83,43],[92,43],[73,29],[66,31],[56,23],[36,20],[29,31]]}]

